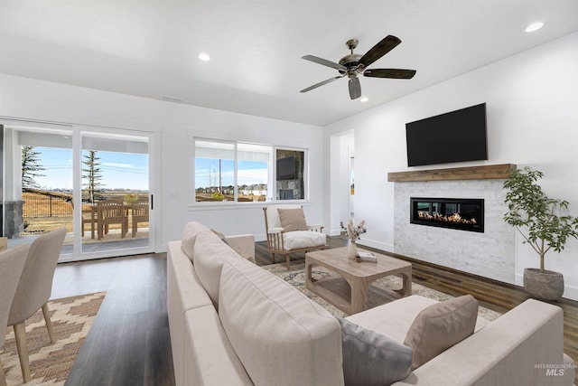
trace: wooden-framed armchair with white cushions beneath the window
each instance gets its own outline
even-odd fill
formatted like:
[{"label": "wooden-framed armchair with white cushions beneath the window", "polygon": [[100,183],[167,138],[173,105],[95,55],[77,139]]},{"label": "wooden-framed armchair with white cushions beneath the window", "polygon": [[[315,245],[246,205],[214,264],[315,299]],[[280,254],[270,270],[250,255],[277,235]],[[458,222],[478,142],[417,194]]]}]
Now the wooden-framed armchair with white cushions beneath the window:
[{"label": "wooden-framed armchair with white cushions beneath the window", "polygon": [[322,225],[309,225],[304,223],[299,231],[287,231],[282,226],[279,209],[301,210],[303,206],[291,204],[270,205],[263,208],[265,212],[265,229],[267,235],[267,250],[271,253],[272,263],[275,263],[275,254],[285,255],[287,270],[289,270],[290,254],[295,252],[307,252],[326,248],[326,236]]}]

